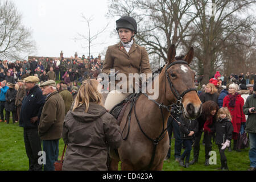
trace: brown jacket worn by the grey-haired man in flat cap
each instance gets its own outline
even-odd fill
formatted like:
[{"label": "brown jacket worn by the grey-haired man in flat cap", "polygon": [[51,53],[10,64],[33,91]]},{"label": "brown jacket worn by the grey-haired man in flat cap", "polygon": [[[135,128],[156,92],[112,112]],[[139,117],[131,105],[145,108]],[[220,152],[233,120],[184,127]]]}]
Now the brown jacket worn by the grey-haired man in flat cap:
[{"label": "brown jacket worn by the grey-haired man in flat cap", "polygon": [[62,136],[65,104],[59,93],[53,92],[46,98],[38,126],[41,140],[55,140]]}]

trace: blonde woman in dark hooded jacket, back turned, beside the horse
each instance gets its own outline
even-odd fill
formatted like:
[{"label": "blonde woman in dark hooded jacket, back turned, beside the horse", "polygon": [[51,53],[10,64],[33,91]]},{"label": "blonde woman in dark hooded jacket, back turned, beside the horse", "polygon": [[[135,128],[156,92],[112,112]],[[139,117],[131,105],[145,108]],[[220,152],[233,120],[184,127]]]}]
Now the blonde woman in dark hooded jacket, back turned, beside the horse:
[{"label": "blonde woman in dark hooded jacket, back turned, beside the horse", "polygon": [[106,171],[108,146],[118,148],[121,134],[116,119],[106,111],[98,82],[83,82],[63,125],[68,144],[63,170]]}]

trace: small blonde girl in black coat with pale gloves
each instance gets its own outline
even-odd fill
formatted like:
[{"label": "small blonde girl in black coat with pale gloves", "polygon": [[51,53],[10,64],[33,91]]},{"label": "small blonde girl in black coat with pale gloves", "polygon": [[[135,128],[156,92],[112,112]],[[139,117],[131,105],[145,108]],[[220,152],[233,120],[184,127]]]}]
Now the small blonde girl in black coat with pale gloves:
[{"label": "small blonde girl in black coat with pale gloves", "polygon": [[232,139],[233,125],[232,117],[228,107],[221,107],[217,113],[217,121],[214,126],[216,132],[216,144],[221,156],[221,169],[228,170],[228,163],[225,156],[225,148],[230,146]]}]

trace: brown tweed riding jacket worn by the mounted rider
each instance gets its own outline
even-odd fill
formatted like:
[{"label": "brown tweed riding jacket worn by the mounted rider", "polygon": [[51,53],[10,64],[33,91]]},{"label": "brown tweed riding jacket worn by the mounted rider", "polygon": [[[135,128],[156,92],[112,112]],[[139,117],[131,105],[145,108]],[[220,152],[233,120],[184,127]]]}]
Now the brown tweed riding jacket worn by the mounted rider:
[{"label": "brown tweed riding jacket worn by the mounted rider", "polygon": [[[119,71],[118,74],[124,73],[127,78],[129,73],[145,73],[146,75],[152,73],[146,49],[136,44],[135,41],[128,53],[121,42],[108,47],[102,73],[109,75],[110,69],[115,69],[115,72]],[[115,81],[115,84],[118,82]],[[127,84],[127,89],[128,86]]]}]

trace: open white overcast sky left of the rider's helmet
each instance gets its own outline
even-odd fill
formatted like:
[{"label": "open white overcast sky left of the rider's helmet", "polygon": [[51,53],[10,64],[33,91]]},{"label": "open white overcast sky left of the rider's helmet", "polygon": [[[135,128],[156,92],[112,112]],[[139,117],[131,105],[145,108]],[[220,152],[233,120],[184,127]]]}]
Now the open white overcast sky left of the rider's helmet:
[{"label": "open white overcast sky left of the rider's helmet", "polygon": [[[118,42],[118,37],[110,37],[115,28],[115,20],[105,17],[108,11],[107,0],[15,0],[18,11],[23,15],[23,24],[32,30],[37,52],[32,56],[64,57],[89,55],[86,41],[75,41],[78,33],[88,35],[88,27],[82,22],[81,14],[93,18],[90,24],[91,35],[109,23],[104,34],[94,40],[103,43],[91,48],[91,55],[97,57],[106,48]],[[84,47],[84,48],[82,48]],[[103,55],[102,55],[103,56]]]}]

